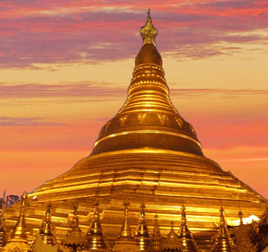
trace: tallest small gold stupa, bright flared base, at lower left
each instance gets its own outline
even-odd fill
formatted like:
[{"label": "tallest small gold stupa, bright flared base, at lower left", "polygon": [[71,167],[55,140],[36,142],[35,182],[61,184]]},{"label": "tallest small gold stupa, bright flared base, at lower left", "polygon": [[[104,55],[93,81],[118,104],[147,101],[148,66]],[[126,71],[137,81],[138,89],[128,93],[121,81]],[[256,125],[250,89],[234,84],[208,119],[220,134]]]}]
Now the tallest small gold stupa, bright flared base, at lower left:
[{"label": "tallest small gold stupa, bright flared base, at lower left", "polygon": [[25,212],[27,206],[28,195],[24,191],[24,194],[21,195],[21,207],[19,212],[19,220],[15,225],[15,228],[8,240],[8,244],[3,247],[3,252],[5,251],[20,251],[20,252],[28,252],[32,251],[30,246],[27,244],[27,235],[26,235],[26,222],[25,222]]}]

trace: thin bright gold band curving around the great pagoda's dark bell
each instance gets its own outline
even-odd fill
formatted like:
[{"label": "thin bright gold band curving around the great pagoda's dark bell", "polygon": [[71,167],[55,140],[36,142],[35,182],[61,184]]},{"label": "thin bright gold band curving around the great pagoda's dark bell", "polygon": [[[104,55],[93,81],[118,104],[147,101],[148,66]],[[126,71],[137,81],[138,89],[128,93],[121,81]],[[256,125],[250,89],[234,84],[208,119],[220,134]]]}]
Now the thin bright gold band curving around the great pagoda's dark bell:
[{"label": "thin bright gold band curving around the great pagoda's dark bell", "polygon": [[97,146],[98,143],[100,143],[103,140],[106,140],[108,138],[111,138],[111,137],[118,137],[119,135],[143,134],[143,133],[165,134],[165,135],[175,135],[177,137],[184,137],[184,138],[189,139],[190,141],[194,142],[195,144],[197,144],[200,148],[202,148],[201,144],[197,140],[193,139],[192,137],[188,137],[187,135],[182,135],[179,133],[162,131],[162,130],[133,130],[133,131],[124,131],[124,132],[120,132],[120,133],[107,135],[107,137],[102,137],[101,139],[96,141],[96,143],[94,144],[94,148]]}]

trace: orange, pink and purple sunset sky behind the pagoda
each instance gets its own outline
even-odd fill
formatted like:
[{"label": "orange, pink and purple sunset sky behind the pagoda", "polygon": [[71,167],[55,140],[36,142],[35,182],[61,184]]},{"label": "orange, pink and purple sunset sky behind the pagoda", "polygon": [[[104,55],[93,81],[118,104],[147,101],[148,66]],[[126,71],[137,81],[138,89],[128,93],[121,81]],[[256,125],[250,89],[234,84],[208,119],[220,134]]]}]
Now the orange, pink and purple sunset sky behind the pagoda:
[{"label": "orange, pink and purple sunset sky behind the pagoda", "polygon": [[0,195],[91,153],[127,98],[148,8],[204,155],[268,198],[267,0],[1,1]]}]

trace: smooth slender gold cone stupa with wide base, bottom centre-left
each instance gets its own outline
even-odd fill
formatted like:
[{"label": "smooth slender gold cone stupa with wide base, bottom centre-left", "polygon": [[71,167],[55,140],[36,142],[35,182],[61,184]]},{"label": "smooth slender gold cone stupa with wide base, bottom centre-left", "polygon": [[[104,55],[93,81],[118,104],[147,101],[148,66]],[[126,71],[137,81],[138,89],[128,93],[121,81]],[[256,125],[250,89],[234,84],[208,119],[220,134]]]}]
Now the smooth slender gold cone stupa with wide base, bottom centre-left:
[{"label": "smooth slender gold cone stupa with wide base, bottom centre-left", "polygon": [[118,235],[118,238],[116,239],[116,244],[114,245],[112,251],[116,252],[139,252],[141,251],[136,240],[134,239],[132,235],[132,231],[129,226],[129,221],[128,221],[128,206],[129,203],[127,200],[125,200],[124,203],[125,206],[125,216],[123,220],[123,225],[120,230],[120,233]]}]

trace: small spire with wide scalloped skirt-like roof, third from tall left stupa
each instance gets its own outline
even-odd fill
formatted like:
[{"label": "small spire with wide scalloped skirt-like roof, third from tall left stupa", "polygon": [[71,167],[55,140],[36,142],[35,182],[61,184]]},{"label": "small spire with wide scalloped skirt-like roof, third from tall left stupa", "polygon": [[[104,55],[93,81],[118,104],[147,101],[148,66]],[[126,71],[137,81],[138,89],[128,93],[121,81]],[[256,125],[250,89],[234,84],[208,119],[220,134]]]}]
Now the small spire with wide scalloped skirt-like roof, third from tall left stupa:
[{"label": "small spire with wide scalloped skirt-like roof, third from tall left stupa", "polygon": [[87,241],[84,239],[82,231],[79,227],[78,204],[75,204],[73,209],[71,231],[68,237],[62,241],[62,245],[71,247],[74,251],[76,251],[78,248],[84,248],[87,246]]}]

